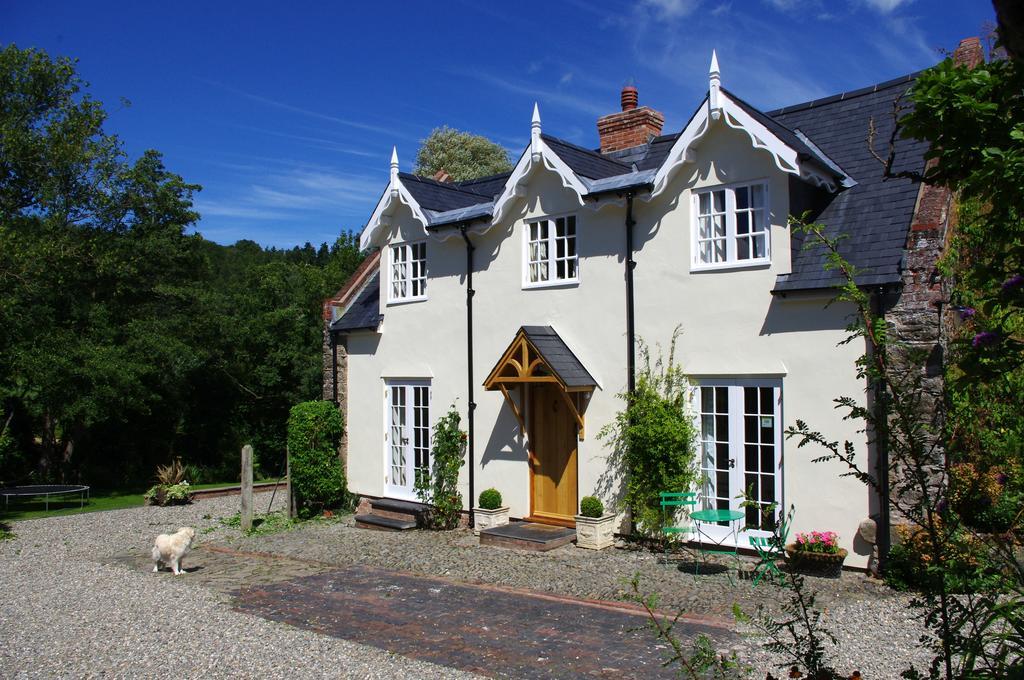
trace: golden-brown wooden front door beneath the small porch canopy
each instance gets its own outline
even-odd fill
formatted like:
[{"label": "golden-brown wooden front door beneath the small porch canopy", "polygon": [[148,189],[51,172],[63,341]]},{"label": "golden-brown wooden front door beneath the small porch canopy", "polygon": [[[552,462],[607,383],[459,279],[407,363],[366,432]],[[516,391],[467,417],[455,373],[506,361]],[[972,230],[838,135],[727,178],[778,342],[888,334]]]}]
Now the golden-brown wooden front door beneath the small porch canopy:
[{"label": "golden-brown wooden front door beneath the small porch canopy", "polygon": [[529,389],[531,519],[572,524],[577,513],[577,423],[558,385]]}]

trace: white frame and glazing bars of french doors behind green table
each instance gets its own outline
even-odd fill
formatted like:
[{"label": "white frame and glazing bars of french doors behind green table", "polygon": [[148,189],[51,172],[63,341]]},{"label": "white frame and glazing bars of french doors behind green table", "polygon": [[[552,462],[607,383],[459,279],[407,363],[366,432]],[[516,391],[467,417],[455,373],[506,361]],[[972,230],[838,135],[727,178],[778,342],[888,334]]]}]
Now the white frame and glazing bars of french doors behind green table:
[{"label": "white frame and glazing bars of french doors behind green table", "polygon": [[[723,437],[720,433],[716,432],[716,442],[726,443],[722,441],[727,440],[727,447],[729,451],[729,458],[735,461],[733,467],[728,468],[727,473],[729,475],[729,490],[726,492],[726,496],[719,496],[718,498],[728,498],[730,509],[739,510],[740,501],[736,499],[736,495],[741,493],[741,490],[745,488],[745,475],[748,473],[752,474],[763,474],[763,471],[759,469],[757,471],[746,470],[746,445],[751,443],[752,445],[757,445],[754,442],[746,441],[745,432],[745,418],[748,417],[745,409],[745,397],[743,390],[748,387],[754,388],[769,388],[772,390],[773,398],[775,400],[775,411],[773,414],[773,437],[772,445],[774,445],[775,468],[773,470],[774,474],[774,502],[776,505],[776,521],[778,521],[782,515],[785,513],[785,499],[783,496],[783,475],[784,475],[784,452],[782,450],[782,418],[783,418],[783,390],[782,381],[779,378],[701,378],[694,381],[693,389],[691,392],[691,409],[694,418],[694,424],[697,431],[697,467],[700,470],[701,479],[698,482],[697,488],[697,504],[699,509],[706,507],[717,507],[715,503],[708,503],[706,498],[708,487],[703,480],[703,470],[707,467],[705,457],[705,441],[703,441],[703,427],[702,427],[702,403],[701,403],[701,388],[705,387],[723,387],[728,390],[728,409],[725,412],[728,423],[727,436]],[[716,403],[716,411],[719,407]],[[717,424],[716,424],[717,427]],[[760,434],[760,433],[759,433]],[[716,443],[717,447],[717,443]],[[717,452],[716,452],[717,453]],[[760,456],[760,452],[759,452]],[[760,458],[759,458],[759,463]],[[737,485],[737,482],[739,485]],[[760,493],[758,494],[760,496]],[[761,529],[749,529],[742,530],[746,525],[745,516],[743,519],[739,520],[738,529],[736,534],[736,545],[740,548],[750,548],[750,538],[751,537],[766,537],[770,536],[770,532]],[[727,540],[731,543],[731,528],[728,526],[721,526],[716,524],[703,524],[701,525],[701,530],[712,537],[715,540]]]}]

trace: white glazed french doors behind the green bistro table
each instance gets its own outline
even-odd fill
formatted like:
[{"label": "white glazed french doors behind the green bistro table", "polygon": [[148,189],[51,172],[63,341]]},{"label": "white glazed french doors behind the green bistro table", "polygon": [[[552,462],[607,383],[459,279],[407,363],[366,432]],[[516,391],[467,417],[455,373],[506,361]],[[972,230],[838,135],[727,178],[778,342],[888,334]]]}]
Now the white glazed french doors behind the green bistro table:
[{"label": "white glazed french doors behind the green bistro table", "polygon": [[[719,380],[696,388],[699,413],[699,508],[736,510],[737,545],[768,536],[782,508],[782,389],[778,381]],[[743,507],[743,501],[753,505]],[[777,504],[774,512],[772,504]],[[716,541],[731,541],[727,522],[701,524]],[[729,537],[727,539],[727,537]]]}]

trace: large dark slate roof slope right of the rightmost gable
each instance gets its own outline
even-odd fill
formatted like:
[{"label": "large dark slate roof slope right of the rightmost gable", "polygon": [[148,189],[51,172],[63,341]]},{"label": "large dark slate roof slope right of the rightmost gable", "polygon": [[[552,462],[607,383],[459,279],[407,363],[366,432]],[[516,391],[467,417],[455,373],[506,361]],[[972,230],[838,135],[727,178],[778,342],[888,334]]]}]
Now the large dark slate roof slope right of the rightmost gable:
[{"label": "large dark slate roof slope right of the rightmost gable", "polygon": [[[840,192],[812,218],[826,225],[826,233],[846,235],[840,252],[863,270],[861,285],[900,281],[900,267],[907,231],[918,200],[918,182],[885,179],[882,165],[867,148],[868,121],[874,119],[876,146],[883,157],[895,124],[893,101],[913,84],[916,74],[847,92],[825,99],[786,107],[766,114],[794,130],[800,130],[836,161],[857,184]],[[900,170],[922,171],[927,142],[899,139],[896,142]],[[821,248],[803,249],[803,239],[793,239],[793,272],[780,275],[775,290],[828,288],[839,277],[823,269]]]}]

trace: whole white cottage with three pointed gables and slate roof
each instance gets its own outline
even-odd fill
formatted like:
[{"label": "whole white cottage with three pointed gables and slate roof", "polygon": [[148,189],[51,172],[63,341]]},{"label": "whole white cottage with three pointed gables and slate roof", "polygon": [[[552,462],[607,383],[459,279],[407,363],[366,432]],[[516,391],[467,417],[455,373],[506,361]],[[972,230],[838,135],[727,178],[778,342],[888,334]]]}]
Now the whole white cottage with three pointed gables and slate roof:
[{"label": "whole white cottage with three pointed gables and slate roof", "polygon": [[[633,384],[636,339],[665,344],[681,326],[701,504],[736,508],[743,488],[794,504],[796,530],[838,532],[847,563],[864,566],[858,525],[879,499],[782,436],[800,418],[856,442],[865,465],[884,455],[834,408],[869,398],[854,368],[864,347],[841,344],[851,309],[827,304],[837,280],[787,222],[810,211],[846,235],[897,330],[912,316],[909,339],[939,342],[929,301],[949,197],[885,180],[867,145],[872,120],[888,141],[912,82],[763,113],[723,87],[713,55],[708,94],[678,132],[663,134],[627,87],[622,111],[597,122],[596,150],[543,132],[535,107],[509,174],[436,181],[399,172],[392,154],[360,238],[371,255],[326,305],[325,396],[344,411],[349,490],[415,501],[430,429],[455,405],[470,433],[467,509],[495,486],[513,517],[571,525],[583,496],[613,500],[595,435]],[[896,152],[924,167],[922,144]],[[748,514],[739,547],[759,533]]]}]

